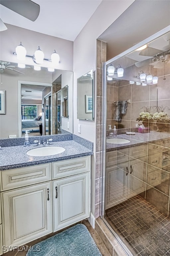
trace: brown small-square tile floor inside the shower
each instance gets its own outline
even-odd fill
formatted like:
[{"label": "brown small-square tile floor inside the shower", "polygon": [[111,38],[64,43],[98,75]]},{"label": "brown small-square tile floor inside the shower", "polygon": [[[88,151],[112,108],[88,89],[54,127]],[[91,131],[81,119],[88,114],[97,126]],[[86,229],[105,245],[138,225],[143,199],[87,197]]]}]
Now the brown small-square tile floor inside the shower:
[{"label": "brown small-square tile floor inside the shower", "polygon": [[136,255],[170,255],[170,217],[139,195],[107,209],[105,218]]}]

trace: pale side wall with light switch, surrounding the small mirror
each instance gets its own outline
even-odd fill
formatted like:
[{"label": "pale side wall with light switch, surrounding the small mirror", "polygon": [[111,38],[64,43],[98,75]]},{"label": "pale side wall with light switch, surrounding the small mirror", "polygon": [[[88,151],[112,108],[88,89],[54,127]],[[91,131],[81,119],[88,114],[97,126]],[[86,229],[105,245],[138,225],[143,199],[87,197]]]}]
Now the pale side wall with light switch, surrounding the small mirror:
[{"label": "pale side wall with light switch, surrounding the small mirror", "polygon": [[[96,39],[129,7],[133,1],[134,0],[102,1],[74,41],[73,131],[74,134],[92,142],[95,142],[95,121],[82,121],[77,119],[77,78],[91,69],[96,70]],[[78,133],[78,124],[81,124],[81,134]]]}]

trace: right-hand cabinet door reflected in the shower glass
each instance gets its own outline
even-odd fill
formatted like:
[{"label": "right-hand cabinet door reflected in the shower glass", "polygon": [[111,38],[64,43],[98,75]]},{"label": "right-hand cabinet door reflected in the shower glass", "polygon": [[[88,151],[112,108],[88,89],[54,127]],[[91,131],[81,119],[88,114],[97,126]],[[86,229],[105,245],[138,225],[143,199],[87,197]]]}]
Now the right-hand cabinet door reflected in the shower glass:
[{"label": "right-hand cabinet door reflected in the shower glass", "polygon": [[145,191],[146,163],[140,160],[132,160],[129,165],[129,188],[131,196]]}]

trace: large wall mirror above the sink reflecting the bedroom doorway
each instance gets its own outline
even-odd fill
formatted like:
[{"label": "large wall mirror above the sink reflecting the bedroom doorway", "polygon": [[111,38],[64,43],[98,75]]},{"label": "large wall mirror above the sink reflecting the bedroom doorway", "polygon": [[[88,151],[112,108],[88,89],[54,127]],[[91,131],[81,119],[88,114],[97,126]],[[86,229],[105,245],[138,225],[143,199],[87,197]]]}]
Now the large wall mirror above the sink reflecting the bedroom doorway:
[{"label": "large wall mirror above the sink reflecting the bedroom doorway", "polygon": [[[49,72],[43,67],[37,71],[31,65],[19,68],[17,63],[0,63],[6,63],[0,71],[0,89],[6,92],[6,114],[0,115],[0,139],[24,137],[26,130],[29,136],[73,133],[73,72]],[[16,71],[8,69],[9,65]],[[65,112],[64,116],[61,113],[62,129],[58,131],[55,94],[62,90]]]}]

